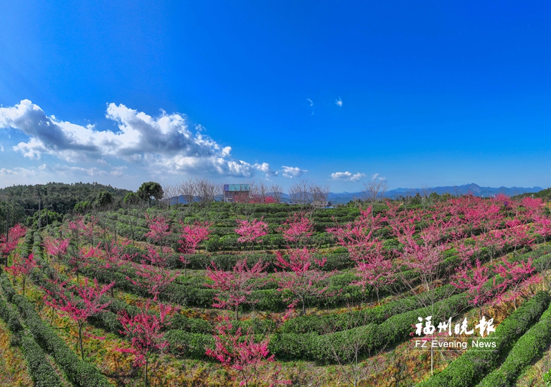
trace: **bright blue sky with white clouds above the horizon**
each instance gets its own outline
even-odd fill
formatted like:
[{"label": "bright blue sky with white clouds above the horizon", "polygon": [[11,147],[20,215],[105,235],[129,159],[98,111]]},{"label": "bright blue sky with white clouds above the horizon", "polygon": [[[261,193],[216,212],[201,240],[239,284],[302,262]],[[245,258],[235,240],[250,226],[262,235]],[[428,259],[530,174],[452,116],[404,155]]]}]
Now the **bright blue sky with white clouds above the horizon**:
[{"label": "bright blue sky with white clouds above the horizon", "polygon": [[551,186],[551,3],[10,1],[0,187]]}]

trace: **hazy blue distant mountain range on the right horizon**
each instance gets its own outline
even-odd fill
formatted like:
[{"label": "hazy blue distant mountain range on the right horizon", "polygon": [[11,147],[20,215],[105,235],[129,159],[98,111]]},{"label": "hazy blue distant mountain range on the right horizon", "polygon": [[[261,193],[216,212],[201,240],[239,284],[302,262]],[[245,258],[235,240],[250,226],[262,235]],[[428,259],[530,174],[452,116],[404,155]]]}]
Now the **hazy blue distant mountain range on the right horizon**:
[{"label": "hazy blue distant mountain range on the right horizon", "polygon": [[[480,187],[479,185],[473,183],[466,185],[454,185],[448,187],[429,187],[429,188],[396,188],[386,191],[384,194],[385,198],[399,198],[400,196],[415,196],[419,195],[424,196],[430,195],[430,193],[436,192],[439,195],[444,193],[450,193],[452,195],[466,195],[467,193],[472,193],[475,196],[481,196],[483,198],[488,198],[490,196],[495,196],[498,193],[505,193],[507,196],[520,195],[521,193],[534,193],[541,191],[541,187]],[[341,192],[341,193],[329,193],[329,201],[332,203],[347,203],[350,200],[362,199],[364,198],[363,192]]]}]

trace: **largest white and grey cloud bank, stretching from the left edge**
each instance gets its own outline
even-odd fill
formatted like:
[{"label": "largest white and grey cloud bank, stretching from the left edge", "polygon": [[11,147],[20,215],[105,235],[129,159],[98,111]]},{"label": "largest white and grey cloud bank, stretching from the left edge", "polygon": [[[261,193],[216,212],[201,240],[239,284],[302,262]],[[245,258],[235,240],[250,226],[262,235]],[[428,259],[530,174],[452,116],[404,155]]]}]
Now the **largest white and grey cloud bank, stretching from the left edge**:
[{"label": "largest white and grey cloud bank, stretching from the left edge", "polygon": [[[98,130],[94,125],[81,126],[47,116],[29,100],[13,107],[0,107],[0,129],[13,127],[29,136],[27,142],[13,147],[23,156],[39,159],[50,154],[70,163],[94,161],[107,164],[105,158],[118,158],[143,165],[155,174],[195,173],[251,177],[256,171],[275,176],[267,163],[251,165],[231,158],[231,147],[223,147],[194,125],[191,132],[187,118],[161,111],[152,117],[125,105],[107,105],[107,118],[118,123],[118,131]],[[76,171],[76,169],[75,169]],[[83,169],[96,176],[101,169]],[[120,172],[120,170],[119,170]],[[112,172],[105,172],[112,173]]]}]

